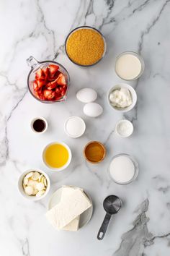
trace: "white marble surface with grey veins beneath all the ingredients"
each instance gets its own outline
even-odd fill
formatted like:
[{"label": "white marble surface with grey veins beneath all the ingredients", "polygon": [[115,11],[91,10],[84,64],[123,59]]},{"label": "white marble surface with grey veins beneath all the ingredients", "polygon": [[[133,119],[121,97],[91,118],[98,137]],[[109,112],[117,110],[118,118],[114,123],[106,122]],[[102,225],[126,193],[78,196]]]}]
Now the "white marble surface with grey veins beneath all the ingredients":
[{"label": "white marble surface with grey veins beneath all the ingredients", "polygon": [[[0,1],[0,255],[2,256],[169,256],[170,255],[170,1],[1,0]],[[107,40],[107,54],[94,67],[83,69],[68,60],[63,50],[68,32],[79,25],[97,27]],[[138,51],[146,70],[131,82],[138,104],[124,117],[135,132],[128,139],[115,136],[122,118],[107,105],[107,90],[120,79],[114,61],[122,51]],[[65,103],[42,104],[27,91],[28,56],[61,62],[71,75]],[[79,88],[91,87],[99,95],[104,113],[84,116],[76,100]],[[86,121],[80,139],[66,137],[68,116]],[[30,131],[30,119],[44,116],[44,135]],[[42,163],[42,148],[53,140],[68,143],[73,161],[66,171],[51,173]],[[89,140],[107,147],[107,158],[92,166],[82,150]],[[109,181],[107,167],[117,153],[134,155],[140,166],[138,179],[127,186]],[[17,191],[17,180],[27,168],[47,171],[52,187],[48,197],[29,202]],[[45,220],[50,195],[63,184],[86,189],[94,202],[89,224],[76,233],[55,231]],[[104,218],[102,201],[110,194],[122,198],[123,208],[112,218],[104,240],[97,231]]]}]

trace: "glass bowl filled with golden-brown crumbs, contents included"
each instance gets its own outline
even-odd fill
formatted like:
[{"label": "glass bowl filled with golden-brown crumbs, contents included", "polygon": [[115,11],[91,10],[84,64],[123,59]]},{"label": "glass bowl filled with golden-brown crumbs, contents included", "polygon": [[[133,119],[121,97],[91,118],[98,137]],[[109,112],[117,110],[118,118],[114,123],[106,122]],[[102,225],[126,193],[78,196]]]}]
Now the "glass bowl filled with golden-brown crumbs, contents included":
[{"label": "glass bowl filled with golden-brown crumbs, contents included", "polygon": [[97,64],[106,52],[102,33],[94,27],[76,27],[68,34],[65,42],[68,58],[81,67]]}]

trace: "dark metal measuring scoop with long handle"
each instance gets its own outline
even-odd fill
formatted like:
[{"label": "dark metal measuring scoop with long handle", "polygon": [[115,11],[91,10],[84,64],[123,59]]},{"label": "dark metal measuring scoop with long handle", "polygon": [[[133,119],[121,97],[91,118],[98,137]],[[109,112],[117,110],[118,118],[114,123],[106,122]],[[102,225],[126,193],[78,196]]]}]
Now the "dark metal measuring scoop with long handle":
[{"label": "dark metal measuring scoop with long handle", "polygon": [[107,213],[104,217],[102,226],[100,227],[99,232],[97,234],[97,239],[102,240],[104,238],[112,214],[117,213],[120,210],[121,206],[122,202],[120,198],[117,197],[116,195],[109,195],[104,199],[103,207]]}]

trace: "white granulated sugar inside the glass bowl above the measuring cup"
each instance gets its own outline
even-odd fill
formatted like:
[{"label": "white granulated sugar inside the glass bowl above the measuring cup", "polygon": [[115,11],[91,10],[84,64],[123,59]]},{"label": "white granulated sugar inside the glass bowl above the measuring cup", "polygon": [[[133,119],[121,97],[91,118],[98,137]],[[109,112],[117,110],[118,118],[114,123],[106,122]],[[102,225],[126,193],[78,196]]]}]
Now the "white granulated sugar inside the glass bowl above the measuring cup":
[{"label": "white granulated sugar inside the glass bowl above the measuring cup", "polygon": [[109,174],[117,183],[128,183],[135,176],[134,163],[128,156],[119,155],[110,163]]}]

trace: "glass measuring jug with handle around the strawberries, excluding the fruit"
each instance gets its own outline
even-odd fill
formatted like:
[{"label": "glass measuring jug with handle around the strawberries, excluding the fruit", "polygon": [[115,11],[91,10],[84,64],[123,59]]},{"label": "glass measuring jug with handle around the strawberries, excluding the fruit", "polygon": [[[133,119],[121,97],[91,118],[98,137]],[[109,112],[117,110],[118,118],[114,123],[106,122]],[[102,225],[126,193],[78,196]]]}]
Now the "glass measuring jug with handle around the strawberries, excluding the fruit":
[{"label": "glass measuring jug with handle around the strawberries, excluding the fruit", "polygon": [[[30,56],[27,59],[27,64],[31,67],[30,73],[28,74],[28,77],[27,77],[27,86],[28,86],[28,89],[30,90],[30,93],[32,94],[32,96],[34,98],[36,98],[37,101],[40,101],[42,103],[55,103],[55,102],[66,101],[68,88],[70,85],[70,76],[69,76],[67,70],[65,69],[65,67],[63,67],[60,63],[58,63],[56,61],[37,61],[37,59],[35,59],[32,56]],[[45,101],[40,98],[37,98],[37,96],[35,95],[35,92],[33,90],[33,82],[35,80],[35,73],[37,72],[38,69],[48,67],[50,64],[58,65],[58,67],[59,67],[58,70],[64,74],[64,76],[66,78],[66,85],[67,85],[65,95],[63,95],[62,98],[55,100],[55,101]]]}]

